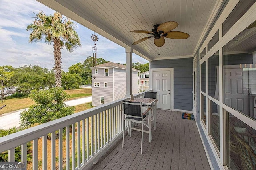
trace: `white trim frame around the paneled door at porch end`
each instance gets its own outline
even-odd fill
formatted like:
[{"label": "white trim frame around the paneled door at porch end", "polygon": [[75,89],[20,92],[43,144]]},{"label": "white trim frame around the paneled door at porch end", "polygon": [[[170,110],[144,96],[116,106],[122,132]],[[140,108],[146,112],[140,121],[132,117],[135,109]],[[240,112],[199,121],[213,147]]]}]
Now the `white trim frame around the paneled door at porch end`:
[{"label": "white trim frame around the paneled door at porch end", "polygon": [[150,68],[149,70],[149,88],[153,90],[153,72],[154,71],[170,71],[170,92],[171,92],[171,96],[170,96],[170,110],[173,110],[173,105],[174,105],[174,100],[173,100],[173,71],[174,68]]}]

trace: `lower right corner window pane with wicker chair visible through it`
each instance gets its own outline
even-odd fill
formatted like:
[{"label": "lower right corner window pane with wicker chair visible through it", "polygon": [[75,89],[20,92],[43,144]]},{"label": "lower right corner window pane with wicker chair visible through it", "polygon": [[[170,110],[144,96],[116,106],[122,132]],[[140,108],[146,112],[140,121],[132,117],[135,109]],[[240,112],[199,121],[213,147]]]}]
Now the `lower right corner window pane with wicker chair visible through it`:
[{"label": "lower right corner window pane with wicker chair visible through it", "polygon": [[256,169],[256,130],[228,113],[228,167],[232,170]]}]

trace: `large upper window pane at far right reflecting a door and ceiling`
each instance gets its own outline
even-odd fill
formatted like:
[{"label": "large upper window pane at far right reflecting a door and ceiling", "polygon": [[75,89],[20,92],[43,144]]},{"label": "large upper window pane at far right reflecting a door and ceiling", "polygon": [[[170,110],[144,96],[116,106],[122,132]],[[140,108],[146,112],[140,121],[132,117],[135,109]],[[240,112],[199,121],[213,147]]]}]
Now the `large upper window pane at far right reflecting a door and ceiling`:
[{"label": "large upper window pane at far right reflecting a door and ceiling", "polygon": [[256,27],[223,47],[223,103],[256,119]]}]

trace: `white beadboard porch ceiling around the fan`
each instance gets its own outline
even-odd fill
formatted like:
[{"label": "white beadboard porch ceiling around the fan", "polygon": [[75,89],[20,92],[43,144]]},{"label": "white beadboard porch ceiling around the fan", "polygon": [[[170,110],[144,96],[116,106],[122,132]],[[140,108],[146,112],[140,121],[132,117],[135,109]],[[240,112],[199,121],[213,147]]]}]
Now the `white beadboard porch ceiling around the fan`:
[{"label": "white beadboard porch ceiling around the fan", "polygon": [[[213,20],[222,0],[38,0],[68,18],[88,27],[122,47],[148,59],[193,57],[202,36]],[[166,21],[178,22],[173,31],[188,33],[188,39],[165,38],[165,45],[154,45],[154,37],[130,33],[131,30],[153,29]],[[170,48],[170,49],[166,49]]]}]

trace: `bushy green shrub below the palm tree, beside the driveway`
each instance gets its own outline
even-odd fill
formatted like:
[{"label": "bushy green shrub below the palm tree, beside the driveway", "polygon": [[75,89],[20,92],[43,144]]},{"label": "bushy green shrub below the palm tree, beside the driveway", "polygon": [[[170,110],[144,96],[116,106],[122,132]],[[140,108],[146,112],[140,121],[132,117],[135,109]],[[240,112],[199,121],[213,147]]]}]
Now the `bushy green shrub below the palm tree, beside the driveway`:
[{"label": "bushy green shrub below the palm tree, beside the driveway", "polygon": [[62,88],[32,90],[29,96],[36,104],[20,113],[20,125],[22,127],[30,127],[36,123],[46,123],[75,112],[74,106],[67,106],[64,103],[64,100],[67,100],[69,95]]}]

